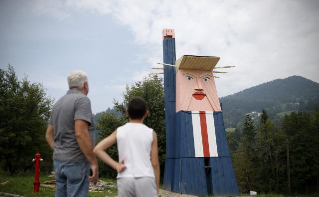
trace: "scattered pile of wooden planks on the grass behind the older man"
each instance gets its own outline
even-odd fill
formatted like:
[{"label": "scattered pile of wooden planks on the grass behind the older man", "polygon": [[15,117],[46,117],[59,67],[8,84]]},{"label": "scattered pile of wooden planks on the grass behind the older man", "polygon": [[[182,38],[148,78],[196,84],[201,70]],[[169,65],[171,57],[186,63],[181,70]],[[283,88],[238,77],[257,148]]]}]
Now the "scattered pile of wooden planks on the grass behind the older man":
[{"label": "scattered pile of wooden planks on the grass behind the older man", "polygon": [[[50,178],[55,178],[55,172],[51,172],[51,175],[47,176]],[[51,188],[55,190],[56,188],[56,182],[55,180],[52,181],[45,181],[43,184],[40,185],[42,188]],[[90,183],[89,192],[102,192],[106,188],[116,188],[116,183],[113,182],[105,182],[102,180],[99,180],[96,184]]]}]

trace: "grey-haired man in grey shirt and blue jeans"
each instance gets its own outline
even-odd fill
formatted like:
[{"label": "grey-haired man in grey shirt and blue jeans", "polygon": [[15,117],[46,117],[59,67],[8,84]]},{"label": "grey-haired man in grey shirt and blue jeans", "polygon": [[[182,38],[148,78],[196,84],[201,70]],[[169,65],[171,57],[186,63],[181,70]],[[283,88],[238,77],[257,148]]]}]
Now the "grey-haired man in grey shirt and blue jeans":
[{"label": "grey-haired man in grey shirt and blue jeans", "polygon": [[96,183],[99,174],[93,153],[95,122],[86,96],[88,77],[72,71],[67,79],[69,90],[53,105],[46,130],[46,141],[54,150],[55,197],[87,197],[90,181]]}]

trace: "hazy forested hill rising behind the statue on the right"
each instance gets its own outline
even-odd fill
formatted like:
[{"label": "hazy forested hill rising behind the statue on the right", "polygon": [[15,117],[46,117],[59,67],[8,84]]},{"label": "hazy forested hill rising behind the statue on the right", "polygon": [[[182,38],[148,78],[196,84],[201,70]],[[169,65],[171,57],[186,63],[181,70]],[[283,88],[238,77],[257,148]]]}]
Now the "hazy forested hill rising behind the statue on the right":
[{"label": "hazy forested hill rising behind the statue on the right", "polygon": [[246,113],[256,112],[258,115],[263,108],[273,119],[279,119],[286,111],[313,111],[318,108],[319,83],[291,76],[221,97],[220,102],[226,127],[236,127]]}]

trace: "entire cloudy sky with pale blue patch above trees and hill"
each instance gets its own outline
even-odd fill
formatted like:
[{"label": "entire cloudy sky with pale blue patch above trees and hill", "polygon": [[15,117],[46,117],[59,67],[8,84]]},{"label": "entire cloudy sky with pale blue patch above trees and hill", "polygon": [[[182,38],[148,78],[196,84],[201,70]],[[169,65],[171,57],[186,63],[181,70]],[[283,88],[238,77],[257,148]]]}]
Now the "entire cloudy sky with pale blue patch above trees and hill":
[{"label": "entire cloudy sky with pale blue patch above trees and hill", "polygon": [[173,28],[177,58],[236,66],[215,79],[219,97],[292,75],[319,82],[318,10],[318,0],[0,0],[0,68],[55,100],[67,73],[84,70],[97,113],[162,62],[161,32]]}]

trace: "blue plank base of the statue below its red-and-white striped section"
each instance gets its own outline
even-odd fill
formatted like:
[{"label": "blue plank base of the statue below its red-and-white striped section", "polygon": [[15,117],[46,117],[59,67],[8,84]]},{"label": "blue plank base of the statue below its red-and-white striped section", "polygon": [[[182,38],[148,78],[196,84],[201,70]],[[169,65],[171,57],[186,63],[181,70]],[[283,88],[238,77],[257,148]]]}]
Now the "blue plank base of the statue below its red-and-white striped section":
[{"label": "blue plank base of the statue below its red-and-white striped section", "polygon": [[230,157],[208,158],[211,168],[207,169],[204,160],[205,158],[168,159],[165,170],[174,169],[174,172],[170,173],[170,181],[164,181],[164,188],[196,196],[239,196]]}]

